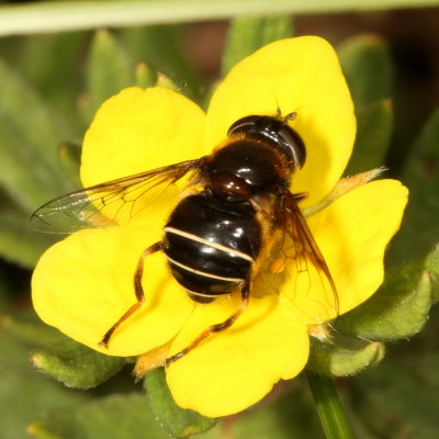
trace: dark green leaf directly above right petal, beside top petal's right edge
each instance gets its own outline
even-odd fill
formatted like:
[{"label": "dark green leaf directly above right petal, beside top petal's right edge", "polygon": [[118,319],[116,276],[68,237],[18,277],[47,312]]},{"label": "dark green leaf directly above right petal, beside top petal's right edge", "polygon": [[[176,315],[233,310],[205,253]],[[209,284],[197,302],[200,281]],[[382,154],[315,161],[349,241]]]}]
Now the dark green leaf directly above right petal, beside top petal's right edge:
[{"label": "dark green leaf directly above right petal, beside top petal's right edge", "polygon": [[393,127],[390,100],[376,101],[357,109],[357,138],[346,175],[354,176],[384,165]]}]

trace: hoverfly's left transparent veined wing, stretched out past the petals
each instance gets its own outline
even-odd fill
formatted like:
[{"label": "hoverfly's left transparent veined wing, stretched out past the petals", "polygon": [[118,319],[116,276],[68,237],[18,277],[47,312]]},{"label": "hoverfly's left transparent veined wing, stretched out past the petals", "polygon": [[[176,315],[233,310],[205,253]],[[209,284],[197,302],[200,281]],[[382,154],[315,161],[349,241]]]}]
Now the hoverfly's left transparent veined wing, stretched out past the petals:
[{"label": "hoverfly's left transparent veined wing, stretched out past the petals", "polygon": [[[182,161],[67,193],[37,209],[31,216],[31,227],[68,234],[80,228],[127,224],[169,184],[199,169],[203,159]],[[162,188],[158,188],[160,185]]]}]

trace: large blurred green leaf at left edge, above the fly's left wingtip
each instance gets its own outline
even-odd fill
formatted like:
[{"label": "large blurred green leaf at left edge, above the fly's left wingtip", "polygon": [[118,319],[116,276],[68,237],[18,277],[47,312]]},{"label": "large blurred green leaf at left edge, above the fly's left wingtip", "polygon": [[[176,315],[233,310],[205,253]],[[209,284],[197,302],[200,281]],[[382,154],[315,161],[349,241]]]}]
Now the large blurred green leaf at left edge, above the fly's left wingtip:
[{"label": "large blurred green leaf at left edge, above the fly's left wingtip", "polygon": [[56,145],[70,136],[53,112],[0,60],[0,183],[26,212],[65,192]]}]

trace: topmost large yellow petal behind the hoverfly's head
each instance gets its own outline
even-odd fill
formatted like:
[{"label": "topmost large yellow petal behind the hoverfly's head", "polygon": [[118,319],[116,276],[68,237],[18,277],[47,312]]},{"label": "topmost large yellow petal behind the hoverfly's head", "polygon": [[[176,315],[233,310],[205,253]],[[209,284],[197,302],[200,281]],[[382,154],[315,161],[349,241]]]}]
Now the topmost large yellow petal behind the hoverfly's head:
[{"label": "topmost large yellow petal behind the hoverfly's head", "polygon": [[356,135],[353,105],[333,47],[316,36],[269,44],[233,68],[207,111],[205,144],[222,142],[246,115],[296,112],[291,126],[307,159],[293,178],[293,192],[308,192],[303,206],[329,193],[349,160]]}]

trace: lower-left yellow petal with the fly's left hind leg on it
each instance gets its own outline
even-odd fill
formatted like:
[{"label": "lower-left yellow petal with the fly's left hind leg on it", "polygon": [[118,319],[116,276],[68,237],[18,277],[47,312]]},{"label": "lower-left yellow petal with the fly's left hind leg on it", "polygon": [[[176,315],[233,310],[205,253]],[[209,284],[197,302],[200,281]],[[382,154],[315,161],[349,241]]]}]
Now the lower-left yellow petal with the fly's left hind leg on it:
[{"label": "lower-left yellow petal with the fly's left hind leg on it", "polygon": [[35,311],[47,324],[113,356],[143,353],[169,341],[193,309],[161,252],[145,260],[145,304],[99,348],[106,330],[136,302],[133,277],[144,248],[157,241],[146,228],[76,233],[49,248],[32,279]]}]

